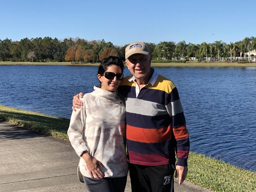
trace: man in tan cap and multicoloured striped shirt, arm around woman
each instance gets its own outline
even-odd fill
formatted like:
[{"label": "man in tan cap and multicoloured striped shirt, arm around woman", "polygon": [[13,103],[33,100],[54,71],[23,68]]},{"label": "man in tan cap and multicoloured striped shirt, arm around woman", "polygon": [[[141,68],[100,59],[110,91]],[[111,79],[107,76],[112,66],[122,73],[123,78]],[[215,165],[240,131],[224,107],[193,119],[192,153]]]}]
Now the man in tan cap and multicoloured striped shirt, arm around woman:
[{"label": "man in tan cap and multicoloured striped shirt, arm around woman", "polygon": [[[143,42],[125,49],[131,76],[118,92],[126,100],[126,138],[132,192],[174,192],[175,154],[179,185],[188,172],[189,137],[178,90],[172,81],[150,68]],[[78,95],[74,107],[80,107]]]}]

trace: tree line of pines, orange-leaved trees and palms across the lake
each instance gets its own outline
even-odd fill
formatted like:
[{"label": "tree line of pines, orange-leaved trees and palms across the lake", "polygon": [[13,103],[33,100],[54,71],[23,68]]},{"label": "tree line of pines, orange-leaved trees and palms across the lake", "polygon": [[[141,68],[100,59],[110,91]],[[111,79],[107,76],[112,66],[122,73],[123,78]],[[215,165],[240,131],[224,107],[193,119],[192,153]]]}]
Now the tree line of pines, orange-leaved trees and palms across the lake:
[{"label": "tree line of pines, orange-leaved trees and palms across the lake", "polygon": [[[87,41],[81,38],[24,38],[20,41],[0,39],[0,61],[10,62],[99,62],[110,55],[125,59],[124,46],[115,46],[102,40]],[[246,37],[229,44],[220,41],[213,43],[186,44],[180,41],[163,41],[158,44],[146,42],[153,60],[198,60],[201,62],[227,60],[243,57],[245,52],[256,50],[256,38]],[[250,56],[250,54],[249,54]],[[250,58],[250,57],[249,57]],[[250,59],[249,59],[250,62]]]}]

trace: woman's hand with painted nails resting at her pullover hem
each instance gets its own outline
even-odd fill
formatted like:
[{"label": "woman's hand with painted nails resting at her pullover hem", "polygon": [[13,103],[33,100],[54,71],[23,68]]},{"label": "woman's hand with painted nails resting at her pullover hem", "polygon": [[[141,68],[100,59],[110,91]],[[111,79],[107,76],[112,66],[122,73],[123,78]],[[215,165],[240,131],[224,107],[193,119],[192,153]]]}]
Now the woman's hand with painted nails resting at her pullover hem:
[{"label": "woman's hand with painted nails resting at her pullover hem", "polygon": [[82,158],[86,162],[86,167],[91,178],[95,177],[97,179],[100,179],[104,177],[103,172],[100,170],[100,167],[104,167],[104,165],[100,161],[90,156],[88,152],[82,154]]}]

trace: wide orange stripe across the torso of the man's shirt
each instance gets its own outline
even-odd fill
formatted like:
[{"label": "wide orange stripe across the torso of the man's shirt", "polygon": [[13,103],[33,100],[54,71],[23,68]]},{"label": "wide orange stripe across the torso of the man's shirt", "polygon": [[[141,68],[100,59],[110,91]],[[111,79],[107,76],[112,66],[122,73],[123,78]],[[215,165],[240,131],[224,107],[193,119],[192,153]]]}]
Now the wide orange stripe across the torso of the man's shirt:
[{"label": "wide orange stripe across the torso of the man's shirt", "polygon": [[159,129],[145,129],[127,125],[126,137],[132,141],[156,143],[170,140],[172,138],[172,131],[170,126]]}]

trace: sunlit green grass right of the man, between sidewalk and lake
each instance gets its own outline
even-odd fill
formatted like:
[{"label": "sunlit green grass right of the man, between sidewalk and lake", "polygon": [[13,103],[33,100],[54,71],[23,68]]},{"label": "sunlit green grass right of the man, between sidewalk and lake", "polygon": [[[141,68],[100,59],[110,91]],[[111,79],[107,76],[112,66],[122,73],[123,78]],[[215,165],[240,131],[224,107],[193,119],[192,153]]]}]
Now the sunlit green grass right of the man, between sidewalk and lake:
[{"label": "sunlit green grass right of the man, between sidewalk and lake", "polygon": [[186,180],[217,192],[256,192],[256,172],[190,152]]}]

